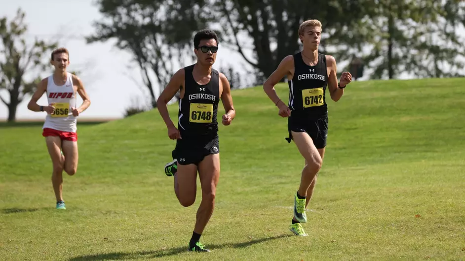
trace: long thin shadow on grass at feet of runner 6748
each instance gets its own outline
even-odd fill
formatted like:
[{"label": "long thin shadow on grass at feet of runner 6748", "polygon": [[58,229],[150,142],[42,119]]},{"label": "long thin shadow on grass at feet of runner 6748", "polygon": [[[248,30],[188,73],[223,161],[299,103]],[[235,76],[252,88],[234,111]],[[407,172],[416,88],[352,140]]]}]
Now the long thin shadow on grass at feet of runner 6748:
[{"label": "long thin shadow on grass at feet of runner 6748", "polygon": [[[279,236],[272,236],[272,237],[264,237],[260,239],[254,239],[250,240],[247,242],[241,242],[241,243],[226,243],[226,244],[221,244],[221,245],[208,245],[207,248],[210,250],[215,250],[215,249],[222,249],[225,247],[231,247],[231,248],[244,248],[248,247],[254,244],[274,240],[274,239],[279,239],[279,238],[285,238],[293,236],[291,234],[282,234]],[[85,256],[79,256],[70,259],[69,261],[87,261],[87,260],[129,260],[129,259],[137,259],[137,258],[147,258],[147,259],[152,259],[152,258],[163,258],[163,257],[169,257],[169,256],[174,256],[178,255],[183,252],[188,252],[187,246],[183,247],[177,247],[177,248],[172,248],[172,249],[160,249],[160,250],[153,250],[153,251],[139,251],[139,252],[134,252],[134,253],[123,253],[123,252],[115,252],[115,253],[107,253],[107,254],[96,254],[96,255],[85,255]],[[207,254],[208,255],[208,254]]]}]

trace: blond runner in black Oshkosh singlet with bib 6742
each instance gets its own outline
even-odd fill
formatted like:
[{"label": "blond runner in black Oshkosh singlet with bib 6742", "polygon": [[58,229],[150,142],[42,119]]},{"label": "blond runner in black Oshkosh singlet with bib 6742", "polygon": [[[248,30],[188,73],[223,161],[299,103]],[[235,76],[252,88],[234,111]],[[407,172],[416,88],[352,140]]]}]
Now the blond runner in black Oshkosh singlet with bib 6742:
[{"label": "blond runner in black Oshkosh singlet with bib 6742", "polygon": [[[285,57],[264,83],[263,89],[279,108],[279,115],[289,117],[289,137],[286,140],[289,143],[294,140],[305,159],[300,187],[294,195],[294,218],[289,229],[296,235],[307,236],[300,223],[307,222],[305,209],[323,163],[328,134],[326,90],[332,100],[338,101],[352,76],[343,72],[338,83],[336,60],[318,53],[321,39],[318,20],[303,22],[299,27],[299,38],[303,43],[302,52]],[[284,76],[289,80],[289,104],[279,99],[274,90],[274,85]]]}]

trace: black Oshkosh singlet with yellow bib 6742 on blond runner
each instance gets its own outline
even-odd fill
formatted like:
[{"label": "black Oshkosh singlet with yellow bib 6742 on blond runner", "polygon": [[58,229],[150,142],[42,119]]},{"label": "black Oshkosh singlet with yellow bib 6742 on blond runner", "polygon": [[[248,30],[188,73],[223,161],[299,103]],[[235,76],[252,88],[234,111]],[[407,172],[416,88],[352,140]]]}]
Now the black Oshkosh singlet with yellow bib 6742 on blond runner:
[{"label": "black Oshkosh singlet with yellow bib 6742 on blond runner", "polygon": [[325,100],[328,75],[326,56],[318,54],[318,63],[304,63],[302,53],[294,55],[294,76],[289,84],[291,117],[322,118],[328,115]]}]

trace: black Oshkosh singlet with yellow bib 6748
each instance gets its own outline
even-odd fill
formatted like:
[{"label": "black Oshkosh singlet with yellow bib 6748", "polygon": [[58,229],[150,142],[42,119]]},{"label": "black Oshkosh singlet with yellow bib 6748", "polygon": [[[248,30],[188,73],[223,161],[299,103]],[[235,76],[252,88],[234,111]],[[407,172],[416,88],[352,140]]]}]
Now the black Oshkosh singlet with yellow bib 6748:
[{"label": "black Oshkosh singlet with yellow bib 6748", "polygon": [[210,135],[218,132],[220,82],[218,71],[212,69],[210,82],[199,85],[194,80],[194,65],[184,67],[185,92],[179,100],[178,130],[181,137]]}]

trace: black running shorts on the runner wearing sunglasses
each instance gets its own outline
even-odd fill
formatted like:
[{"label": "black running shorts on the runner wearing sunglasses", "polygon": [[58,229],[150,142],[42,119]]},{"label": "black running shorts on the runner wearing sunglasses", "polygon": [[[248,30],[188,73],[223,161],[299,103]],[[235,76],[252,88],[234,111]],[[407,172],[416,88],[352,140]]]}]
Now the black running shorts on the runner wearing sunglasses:
[{"label": "black running shorts on the runner wearing sunglasses", "polygon": [[220,153],[220,143],[218,135],[214,135],[178,139],[171,155],[180,165],[198,165],[206,156],[218,153]]}]

